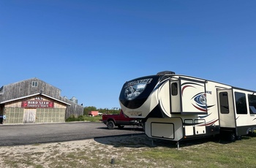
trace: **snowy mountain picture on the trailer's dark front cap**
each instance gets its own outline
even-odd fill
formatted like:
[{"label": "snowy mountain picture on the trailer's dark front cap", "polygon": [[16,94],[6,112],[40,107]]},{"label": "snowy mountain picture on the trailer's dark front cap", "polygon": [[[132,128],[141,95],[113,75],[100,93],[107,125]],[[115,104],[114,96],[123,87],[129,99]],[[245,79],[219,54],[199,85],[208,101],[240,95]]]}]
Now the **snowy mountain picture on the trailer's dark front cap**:
[{"label": "snowy mountain picture on the trailer's dark front cap", "polygon": [[124,91],[125,98],[127,100],[133,100],[136,97],[138,97],[140,93],[142,93],[145,90],[146,85],[148,85],[148,83],[151,83],[151,80],[152,78],[148,78],[143,80],[135,80],[130,83],[127,83]]}]

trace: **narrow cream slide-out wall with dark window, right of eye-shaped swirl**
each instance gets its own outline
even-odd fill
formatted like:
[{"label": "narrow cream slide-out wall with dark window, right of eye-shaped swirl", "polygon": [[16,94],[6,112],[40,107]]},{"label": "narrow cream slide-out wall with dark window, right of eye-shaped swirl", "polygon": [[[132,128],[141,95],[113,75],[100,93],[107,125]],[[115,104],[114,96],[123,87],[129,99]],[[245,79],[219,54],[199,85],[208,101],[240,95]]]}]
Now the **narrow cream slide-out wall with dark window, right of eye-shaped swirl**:
[{"label": "narrow cream slide-out wall with dark window, right of eye-shaped swirl", "polygon": [[232,89],[217,90],[217,94],[219,126],[221,128],[236,128]]}]

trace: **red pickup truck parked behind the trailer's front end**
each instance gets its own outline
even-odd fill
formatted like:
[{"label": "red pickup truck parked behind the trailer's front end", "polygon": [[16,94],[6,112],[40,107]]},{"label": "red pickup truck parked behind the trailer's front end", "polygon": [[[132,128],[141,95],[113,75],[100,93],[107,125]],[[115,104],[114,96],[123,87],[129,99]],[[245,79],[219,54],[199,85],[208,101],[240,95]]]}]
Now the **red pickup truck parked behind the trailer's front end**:
[{"label": "red pickup truck parked behind the trailer's front end", "polygon": [[116,126],[118,126],[118,129],[123,129],[124,125],[142,126],[140,118],[129,118],[124,115],[122,110],[116,115],[102,115],[101,121],[108,126],[108,129],[115,129]]}]

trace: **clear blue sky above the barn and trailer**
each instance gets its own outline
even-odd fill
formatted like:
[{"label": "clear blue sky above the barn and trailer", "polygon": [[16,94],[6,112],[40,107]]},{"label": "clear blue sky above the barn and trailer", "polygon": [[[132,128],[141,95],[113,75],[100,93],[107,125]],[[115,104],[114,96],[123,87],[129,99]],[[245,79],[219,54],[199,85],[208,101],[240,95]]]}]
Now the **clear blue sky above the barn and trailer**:
[{"label": "clear blue sky above the barn and trailer", "polygon": [[170,70],[256,90],[256,1],[1,0],[0,85],[37,77],[83,106]]}]

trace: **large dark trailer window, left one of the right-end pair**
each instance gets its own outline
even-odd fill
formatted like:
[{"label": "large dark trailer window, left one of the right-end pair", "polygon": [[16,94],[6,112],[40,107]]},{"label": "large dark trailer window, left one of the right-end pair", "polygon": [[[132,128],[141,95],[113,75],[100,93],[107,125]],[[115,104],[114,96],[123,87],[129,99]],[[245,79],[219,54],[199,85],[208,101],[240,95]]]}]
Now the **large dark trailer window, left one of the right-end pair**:
[{"label": "large dark trailer window, left one of the right-end pair", "polygon": [[236,113],[247,114],[245,93],[235,92],[236,99]]}]

